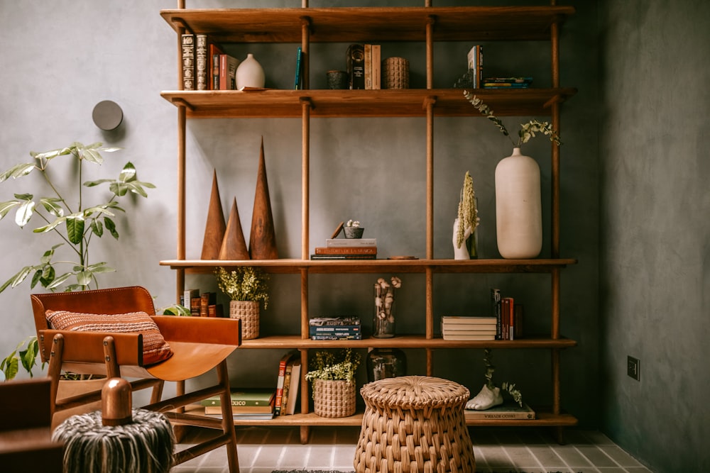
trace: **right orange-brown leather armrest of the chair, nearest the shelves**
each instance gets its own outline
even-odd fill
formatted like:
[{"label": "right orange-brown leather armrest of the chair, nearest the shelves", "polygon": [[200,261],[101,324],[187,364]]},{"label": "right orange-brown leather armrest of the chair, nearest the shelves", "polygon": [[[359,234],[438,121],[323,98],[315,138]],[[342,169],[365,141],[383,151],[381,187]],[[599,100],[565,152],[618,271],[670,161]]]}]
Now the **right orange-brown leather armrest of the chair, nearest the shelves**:
[{"label": "right orange-brown leather armrest of the chair, nearest the shelves", "polygon": [[238,318],[153,316],[153,321],[168,343],[241,345],[241,321]]}]

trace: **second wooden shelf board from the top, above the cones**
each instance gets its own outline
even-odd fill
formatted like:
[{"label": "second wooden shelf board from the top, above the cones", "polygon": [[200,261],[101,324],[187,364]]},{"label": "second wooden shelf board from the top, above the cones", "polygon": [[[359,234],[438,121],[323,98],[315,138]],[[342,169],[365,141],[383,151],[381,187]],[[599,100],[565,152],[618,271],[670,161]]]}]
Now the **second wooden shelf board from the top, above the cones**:
[{"label": "second wooden shelf board from the top, above the cones", "polygon": [[[551,106],[577,93],[559,89],[471,89],[496,116],[549,116]],[[464,97],[464,89],[285,90],[259,89],[163,91],[175,106],[187,108],[187,118],[300,118],[302,103],[312,118],[424,117],[434,102],[435,116],[484,118]]]}]

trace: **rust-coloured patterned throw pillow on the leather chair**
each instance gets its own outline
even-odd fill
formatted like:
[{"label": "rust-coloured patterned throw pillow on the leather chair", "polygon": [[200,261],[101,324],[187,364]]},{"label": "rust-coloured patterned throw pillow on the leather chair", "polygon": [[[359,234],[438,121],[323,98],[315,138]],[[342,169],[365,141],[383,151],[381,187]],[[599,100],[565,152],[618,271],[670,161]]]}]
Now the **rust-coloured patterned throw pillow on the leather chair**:
[{"label": "rust-coloured patterned throw pillow on the leather chair", "polygon": [[154,365],[173,356],[153,319],[145,312],[99,314],[47,311],[51,328],[75,332],[114,332],[143,334],[143,365]]}]

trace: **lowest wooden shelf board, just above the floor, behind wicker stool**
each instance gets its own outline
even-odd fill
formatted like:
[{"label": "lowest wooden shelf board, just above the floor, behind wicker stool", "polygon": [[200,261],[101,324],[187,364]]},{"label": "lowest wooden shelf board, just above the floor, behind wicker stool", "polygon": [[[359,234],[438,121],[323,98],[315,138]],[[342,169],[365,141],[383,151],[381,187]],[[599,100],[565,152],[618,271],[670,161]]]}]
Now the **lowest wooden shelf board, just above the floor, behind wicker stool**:
[{"label": "lowest wooden shelf board, just above the floor, behind wicker stool", "polygon": [[[185,413],[189,413],[195,416],[204,416],[201,414],[201,406],[187,406]],[[247,420],[240,421],[235,420],[234,425],[362,425],[363,413],[358,412],[353,416],[342,417],[342,418],[326,418],[317,416],[315,413],[307,414],[293,414],[290,416],[278,416],[273,419],[268,420]],[[466,420],[466,425],[480,425],[480,426],[497,426],[497,427],[572,427],[577,425],[577,418],[574,416],[562,413],[553,414],[549,412],[537,412],[537,418],[532,421],[527,420]]]}]

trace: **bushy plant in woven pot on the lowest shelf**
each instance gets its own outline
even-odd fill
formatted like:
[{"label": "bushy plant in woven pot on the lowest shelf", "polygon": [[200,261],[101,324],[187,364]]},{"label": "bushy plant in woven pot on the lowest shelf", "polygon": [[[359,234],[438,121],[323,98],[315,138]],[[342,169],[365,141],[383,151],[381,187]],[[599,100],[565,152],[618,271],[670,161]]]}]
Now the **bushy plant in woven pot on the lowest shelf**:
[{"label": "bushy plant in woven pot on the lowest shelf", "polygon": [[355,373],[359,353],[350,348],[317,351],[306,379],[313,387],[313,411],[321,417],[348,417],[355,413]]}]

